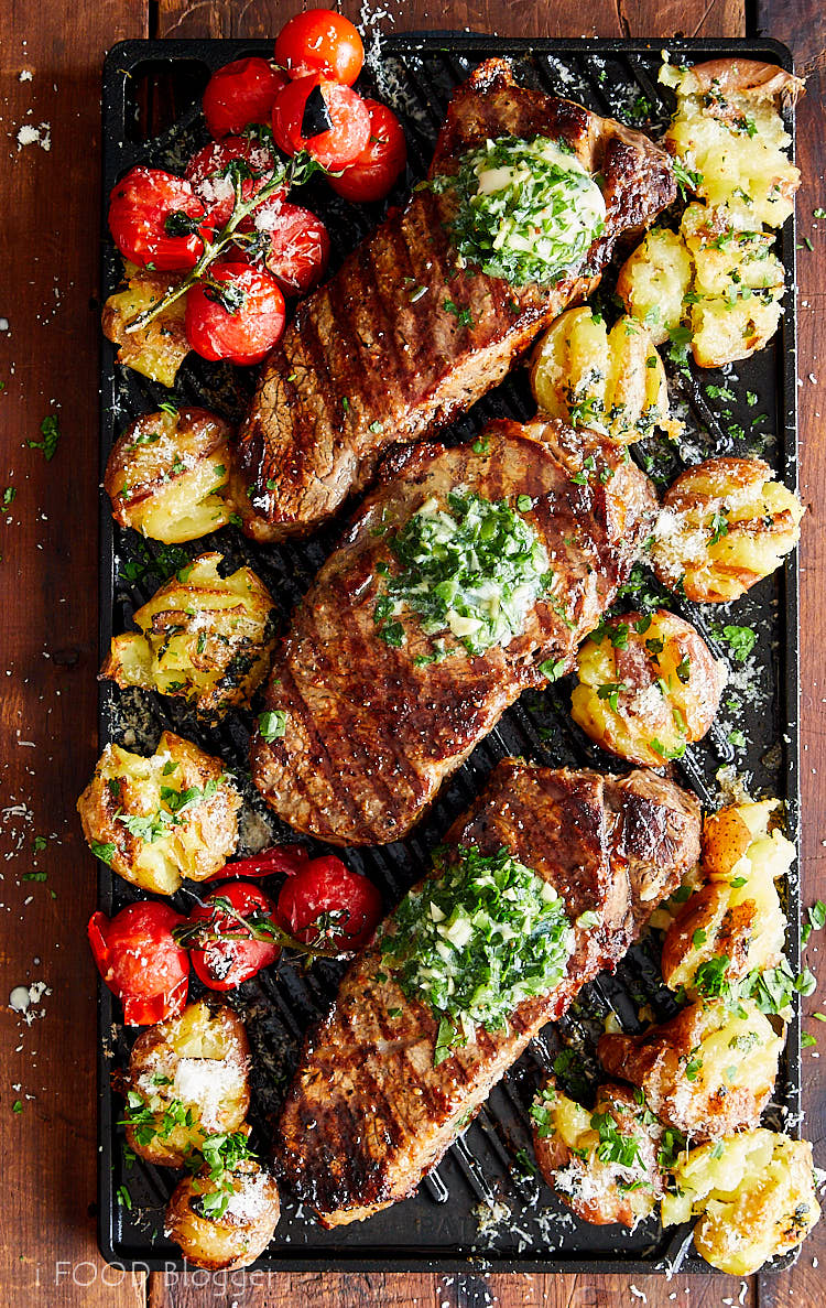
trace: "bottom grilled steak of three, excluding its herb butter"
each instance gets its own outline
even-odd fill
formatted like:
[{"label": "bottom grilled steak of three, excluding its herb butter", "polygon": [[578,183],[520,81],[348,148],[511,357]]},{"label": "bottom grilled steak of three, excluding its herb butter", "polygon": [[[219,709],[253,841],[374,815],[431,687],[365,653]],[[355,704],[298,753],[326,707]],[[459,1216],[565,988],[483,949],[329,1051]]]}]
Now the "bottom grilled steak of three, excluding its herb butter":
[{"label": "bottom grilled steak of three, excluding its herb butter", "polygon": [[523,999],[504,1029],[477,1028],[434,1067],[439,1019],[396,984],[379,933],[307,1037],[280,1120],[278,1167],[323,1226],[371,1216],[416,1189],[537,1031],[616,968],[697,862],[699,829],[694,795],[651,772],[498,765],[447,844],[482,855],[506,848],[558,891],[574,927],[567,971]]}]

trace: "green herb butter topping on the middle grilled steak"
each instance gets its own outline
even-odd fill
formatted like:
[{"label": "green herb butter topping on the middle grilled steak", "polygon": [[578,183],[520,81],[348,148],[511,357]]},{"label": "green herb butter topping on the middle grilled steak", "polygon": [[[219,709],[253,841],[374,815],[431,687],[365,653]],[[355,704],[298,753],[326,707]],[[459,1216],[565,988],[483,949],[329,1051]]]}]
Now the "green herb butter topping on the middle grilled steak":
[{"label": "green herb butter topping on the middle grilled steak", "polygon": [[404,645],[406,608],[429,636],[451,632],[481,654],[524,630],[549,585],[548,555],[504,500],[456,490],[447,502],[450,511],[427,500],[388,540],[401,570],[387,577],[374,619],[387,645]]}]

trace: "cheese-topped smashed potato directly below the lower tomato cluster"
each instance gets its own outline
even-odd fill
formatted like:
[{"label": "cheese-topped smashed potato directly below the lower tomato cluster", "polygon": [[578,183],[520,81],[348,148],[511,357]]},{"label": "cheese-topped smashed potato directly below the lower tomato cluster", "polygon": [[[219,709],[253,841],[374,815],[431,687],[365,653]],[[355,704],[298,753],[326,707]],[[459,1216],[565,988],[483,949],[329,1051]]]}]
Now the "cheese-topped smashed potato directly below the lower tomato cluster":
[{"label": "cheese-topped smashed potato directly below the lower tomato cluster", "polygon": [[250,1107],[250,1046],[226,1005],[201,999],[144,1031],[132,1049],[127,1142],[140,1158],[183,1167],[209,1135],[239,1131]]}]

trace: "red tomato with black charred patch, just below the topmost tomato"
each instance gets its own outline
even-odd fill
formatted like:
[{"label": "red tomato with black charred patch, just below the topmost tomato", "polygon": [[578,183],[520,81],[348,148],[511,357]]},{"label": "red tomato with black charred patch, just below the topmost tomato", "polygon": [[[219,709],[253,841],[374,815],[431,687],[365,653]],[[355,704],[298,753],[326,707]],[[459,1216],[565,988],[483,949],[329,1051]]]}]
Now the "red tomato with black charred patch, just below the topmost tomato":
[{"label": "red tomato with black charred patch, just below the topmost tomato", "polygon": [[286,154],[307,150],[322,167],[337,173],[353,164],[370,140],[370,112],[349,86],[325,77],[299,77],[278,95],[272,129]]}]

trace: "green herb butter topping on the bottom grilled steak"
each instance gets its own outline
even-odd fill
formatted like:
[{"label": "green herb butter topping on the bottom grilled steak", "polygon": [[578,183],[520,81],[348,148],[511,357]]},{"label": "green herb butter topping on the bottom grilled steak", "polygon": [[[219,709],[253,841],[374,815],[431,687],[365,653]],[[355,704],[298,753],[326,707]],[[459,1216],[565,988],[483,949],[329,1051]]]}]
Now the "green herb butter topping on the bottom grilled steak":
[{"label": "green herb butter topping on the bottom grilled steak", "polygon": [[382,952],[404,993],[440,1019],[438,1066],[476,1027],[502,1029],[521,999],[552,990],[574,933],[553,886],[507,849],[440,849],[434,865],[442,875],[401,901]]}]

